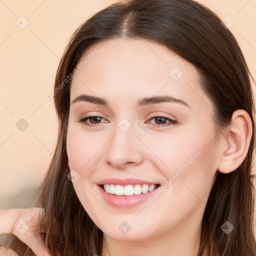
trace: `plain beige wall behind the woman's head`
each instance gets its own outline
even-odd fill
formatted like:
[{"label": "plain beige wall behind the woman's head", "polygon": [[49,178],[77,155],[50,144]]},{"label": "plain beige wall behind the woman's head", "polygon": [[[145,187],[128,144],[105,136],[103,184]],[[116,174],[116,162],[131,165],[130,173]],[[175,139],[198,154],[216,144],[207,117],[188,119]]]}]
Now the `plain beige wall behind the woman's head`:
[{"label": "plain beige wall behind the woman's head", "polygon": [[[53,89],[59,58],[75,28],[112,2],[0,0],[0,209],[29,207],[56,141],[53,100],[46,94]],[[200,2],[234,21],[230,30],[255,79],[256,1]],[[29,24],[21,29],[15,22]],[[21,118],[29,125],[23,131],[16,127]]]}]

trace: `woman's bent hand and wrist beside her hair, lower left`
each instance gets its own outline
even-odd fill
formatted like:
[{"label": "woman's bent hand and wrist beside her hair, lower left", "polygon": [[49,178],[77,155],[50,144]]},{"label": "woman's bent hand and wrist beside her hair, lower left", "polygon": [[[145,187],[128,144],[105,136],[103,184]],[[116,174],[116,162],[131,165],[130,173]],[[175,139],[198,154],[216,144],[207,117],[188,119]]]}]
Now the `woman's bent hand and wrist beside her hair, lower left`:
[{"label": "woman's bent hand and wrist beside her hair, lower left", "polygon": [[[44,217],[43,208],[0,210],[0,234],[12,233],[28,245],[37,256],[50,256],[38,227]],[[45,229],[45,223],[40,225]]]}]

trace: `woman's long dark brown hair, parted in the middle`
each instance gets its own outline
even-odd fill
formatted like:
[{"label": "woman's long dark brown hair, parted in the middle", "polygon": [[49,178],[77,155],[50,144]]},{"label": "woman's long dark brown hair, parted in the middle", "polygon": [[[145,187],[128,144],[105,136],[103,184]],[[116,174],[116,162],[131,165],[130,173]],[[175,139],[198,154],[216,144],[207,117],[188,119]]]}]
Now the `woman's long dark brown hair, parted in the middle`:
[{"label": "woman's long dark brown hair, parted in the middle", "polygon": [[[200,73],[201,88],[214,104],[214,120],[219,127],[230,124],[237,109],[247,111],[253,123],[244,161],[235,171],[217,173],[202,218],[197,256],[255,256],[254,175],[251,174],[254,105],[250,78],[253,78],[234,36],[220,21],[211,10],[193,0],[131,0],[111,4],[72,34],[56,72],[54,89],[73,72],[89,46],[110,38],[159,42],[192,63]],[[67,178],[69,91],[70,81],[54,93],[58,140],[34,206],[45,209],[47,230],[43,237],[54,256],[101,255],[102,231],[86,213]],[[220,228],[226,220],[235,227],[229,234]],[[54,222],[58,226],[55,233]],[[28,252],[29,249],[24,255]]]}]

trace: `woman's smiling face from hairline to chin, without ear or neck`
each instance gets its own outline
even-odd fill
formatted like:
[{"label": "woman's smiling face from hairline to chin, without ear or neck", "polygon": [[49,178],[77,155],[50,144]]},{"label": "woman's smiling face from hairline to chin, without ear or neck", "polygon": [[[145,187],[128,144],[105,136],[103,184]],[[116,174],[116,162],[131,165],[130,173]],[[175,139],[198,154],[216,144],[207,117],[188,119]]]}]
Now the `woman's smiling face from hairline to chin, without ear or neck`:
[{"label": "woman's smiling face from hairline to chin, without ear or neck", "polygon": [[121,240],[199,231],[219,145],[213,104],[195,67],[140,39],[94,44],[80,61],[66,145],[73,186],[88,215]]}]

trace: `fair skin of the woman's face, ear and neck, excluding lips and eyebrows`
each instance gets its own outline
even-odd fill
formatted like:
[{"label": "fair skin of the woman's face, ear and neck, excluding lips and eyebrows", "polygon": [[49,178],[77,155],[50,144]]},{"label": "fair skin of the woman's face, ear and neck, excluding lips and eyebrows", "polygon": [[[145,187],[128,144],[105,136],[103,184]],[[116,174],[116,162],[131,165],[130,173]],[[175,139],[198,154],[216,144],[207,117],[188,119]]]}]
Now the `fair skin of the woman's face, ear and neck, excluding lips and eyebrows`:
[{"label": "fair skin of the woman's face, ear and neck, excluding lips and eyebrows", "polygon": [[[250,118],[243,110],[235,112],[235,125],[219,134],[213,103],[199,86],[196,68],[159,43],[111,39],[92,45],[81,60],[95,48],[99,52],[72,79],[70,102],[87,94],[105,98],[109,106],[71,103],[66,146],[69,168],[80,175],[75,192],[103,231],[102,255],[194,256],[210,188],[217,171],[230,172],[244,159]],[[173,67],[183,73],[178,80],[169,75]],[[170,95],[190,107],[177,102],[136,105],[139,98],[154,95]],[[102,118],[78,122],[91,115]],[[169,122],[150,117],[157,115],[177,123],[157,127]],[[131,124],[127,131],[118,127],[122,118]],[[163,185],[197,151],[200,156],[154,202],[117,208],[99,193],[96,183],[108,177]],[[131,226],[125,234],[118,229],[123,221]]]}]

